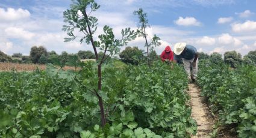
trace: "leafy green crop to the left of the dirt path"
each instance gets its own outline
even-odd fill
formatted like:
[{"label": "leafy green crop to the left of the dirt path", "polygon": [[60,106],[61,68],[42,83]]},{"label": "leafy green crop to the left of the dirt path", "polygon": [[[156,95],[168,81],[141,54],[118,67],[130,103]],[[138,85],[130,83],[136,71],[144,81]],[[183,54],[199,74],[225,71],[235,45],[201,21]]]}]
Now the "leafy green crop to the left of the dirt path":
[{"label": "leafy green crop to the left of the dirt path", "polygon": [[[77,56],[76,56],[77,57]],[[120,63],[120,62],[119,62]],[[93,62],[80,73],[0,73],[0,135],[4,137],[190,137],[196,122],[181,67],[161,62],[102,67],[107,124],[99,127],[98,75]],[[172,81],[175,80],[175,81]],[[4,120],[4,121],[3,121]]]}]

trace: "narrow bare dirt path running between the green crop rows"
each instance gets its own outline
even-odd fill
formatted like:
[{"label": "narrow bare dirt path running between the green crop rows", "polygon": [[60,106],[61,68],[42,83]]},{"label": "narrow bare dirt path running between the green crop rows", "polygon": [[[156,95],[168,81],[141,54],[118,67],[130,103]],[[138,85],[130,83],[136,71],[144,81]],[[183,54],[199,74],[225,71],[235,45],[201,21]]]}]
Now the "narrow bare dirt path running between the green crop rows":
[{"label": "narrow bare dirt path running between the green crop rows", "polygon": [[209,115],[207,105],[203,102],[203,97],[199,97],[200,92],[195,84],[189,84],[189,94],[191,97],[190,104],[192,106],[192,118],[198,123],[198,133],[195,137],[210,137],[213,118]]}]

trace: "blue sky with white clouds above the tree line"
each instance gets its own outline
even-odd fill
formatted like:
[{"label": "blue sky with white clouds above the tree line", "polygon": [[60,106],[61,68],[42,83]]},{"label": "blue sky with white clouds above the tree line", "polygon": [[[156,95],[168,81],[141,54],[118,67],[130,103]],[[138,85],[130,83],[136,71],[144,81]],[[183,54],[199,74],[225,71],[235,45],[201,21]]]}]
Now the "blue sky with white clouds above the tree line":
[{"label": "blue sky with white clouds above the tree line", "polygon": [[[195,46],[199,52],[224,53],[229,50],[245,55],[256,50],[256,1],[254,0],[96,0],[101,8],[93,13],[99,20],[97,35],[102,26],[114,28],[120,37],[122,28],[137,29],[134,10],[143,8],[148,13],[149,37],[161,38],[158,54],[164,47],[178,42]],[[45,46],[57,53],[92,50],[92,46],[78,41],[64,43],[66,32],[61,31],[63,11],[70,0],[1,0],[0,50],[12,55],[30,53],[32,46]],[[145,49],[143,38],[128,46]],[[125,49],[125,47],[122,47]]]}]

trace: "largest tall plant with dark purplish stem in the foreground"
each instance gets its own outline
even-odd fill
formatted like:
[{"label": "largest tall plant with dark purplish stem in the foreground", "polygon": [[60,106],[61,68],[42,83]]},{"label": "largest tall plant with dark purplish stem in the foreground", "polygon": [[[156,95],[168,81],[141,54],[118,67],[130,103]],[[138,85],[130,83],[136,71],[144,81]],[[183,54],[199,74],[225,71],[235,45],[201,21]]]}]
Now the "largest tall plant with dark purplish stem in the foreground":
[{"label": "largest tall plant with dark purplish stem in the foreground", "polygon": [[[104,126],[106,124],[104,105],[102,97],[99,94],[99,92],[101,92],[102,90],[101,66],[104,63],[105,59],[119,52],[119,47],[126,45],[128,41],[134,40],[137,34],[130,28],[122,29],[122,38],[120,40],[117,40],[114,38],[113,29],[105,25],[103,28],[104,34],[98,36],[99,41],[95,41],[95,39],[93,38],[93,34],[95,34],[96,32],[98,26],[98,19],[91,16],[91,13],[98,10],[99,7],[100,5],[98,5],[93,0],[74,1],[73,4],[70,6],[70,10],[66,10],[63,13],[64,22],[68,24],[63,25],[63,31],[67,31],[67,35],[69,35],[69,38],[64,38],[66,42],[75,40],[76,38],[80,38],[81,43],[85,41],[87,44],[92,44],[93,51],[98,62],[98,89],[93,89],[92,91],[94,91],[95,95],[98,97],[99,107],[101,109],[101,123],[102,126]],[[79,36],[79,34],[73,34],[73,31],[75,29],[80,31],[83,35]],[[102,58],[99,58],[97,48],[104,52]]]}]

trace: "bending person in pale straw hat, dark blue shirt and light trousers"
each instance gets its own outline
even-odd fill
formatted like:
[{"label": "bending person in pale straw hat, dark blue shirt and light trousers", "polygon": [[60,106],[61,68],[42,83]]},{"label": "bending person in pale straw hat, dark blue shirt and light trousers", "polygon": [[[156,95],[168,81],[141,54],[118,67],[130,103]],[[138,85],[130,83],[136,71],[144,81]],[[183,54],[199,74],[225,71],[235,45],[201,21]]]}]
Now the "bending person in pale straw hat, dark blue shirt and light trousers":
[{"label": "bending person in pale straw hat, dark blue shirt and light trousers", "polygon": [[187,43],[176,43],[173,47],[173,52],[173,61],[176,62],[178,58],[183,59],[184,68],[188,74],[189,81],[195,82],[198,74],[198,51],[196,47]]}]

